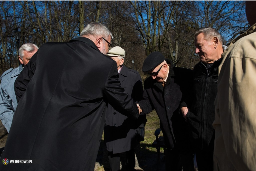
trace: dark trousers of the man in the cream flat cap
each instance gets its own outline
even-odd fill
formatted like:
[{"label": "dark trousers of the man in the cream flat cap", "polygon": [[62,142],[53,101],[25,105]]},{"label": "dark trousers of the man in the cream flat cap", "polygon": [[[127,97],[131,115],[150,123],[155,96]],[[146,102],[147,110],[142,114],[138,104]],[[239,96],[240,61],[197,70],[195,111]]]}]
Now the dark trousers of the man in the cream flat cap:
[{"label": "dark trousers of the man in the cream flat cap", "polygon": [[[120,154],[121,153],[113,154],[113,152],[108,152],[110,170],[120,170]],[[133,149],[130,151],[126,151],[125,156],[126,156],[125,169],[134,170],[135,150]],[[122,168],[122,170],[124,169]]]}]

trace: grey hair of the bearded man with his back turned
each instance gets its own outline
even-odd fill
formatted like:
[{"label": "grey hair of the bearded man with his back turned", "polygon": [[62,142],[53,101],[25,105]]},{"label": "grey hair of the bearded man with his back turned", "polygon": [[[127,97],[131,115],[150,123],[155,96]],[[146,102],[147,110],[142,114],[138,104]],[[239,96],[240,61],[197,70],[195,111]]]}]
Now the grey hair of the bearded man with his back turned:
[{"label": "grey hair of the bearded man with his back turned", "polygon": [[113,35],[110,32],[109,28],[99,22],[91,22],[80,33],[80,37],[90,36],[90,35],[103,36],[105,39],[107,39],[110,35],[111,39],[113,39]]}]

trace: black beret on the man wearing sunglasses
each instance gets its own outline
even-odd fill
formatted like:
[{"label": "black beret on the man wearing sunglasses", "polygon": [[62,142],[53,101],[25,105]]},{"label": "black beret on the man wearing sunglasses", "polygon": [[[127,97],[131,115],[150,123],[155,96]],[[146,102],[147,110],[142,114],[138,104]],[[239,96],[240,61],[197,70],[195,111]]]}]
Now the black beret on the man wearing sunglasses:
[{"label": "black beret on the man wearing sunglasses", "polygon": [[160,52],[152,52],[143,62],[142,72],[148,72],[164,62],[164,55]]}]

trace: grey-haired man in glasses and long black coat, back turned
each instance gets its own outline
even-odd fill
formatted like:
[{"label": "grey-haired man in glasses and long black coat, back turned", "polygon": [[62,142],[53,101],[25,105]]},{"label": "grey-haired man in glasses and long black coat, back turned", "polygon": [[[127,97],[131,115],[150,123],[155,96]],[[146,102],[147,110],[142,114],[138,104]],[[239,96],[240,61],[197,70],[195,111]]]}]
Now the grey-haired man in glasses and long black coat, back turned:
[{"label": "grey-haired man in glasses and long black coat, back turned", "polygon": [[91,23],[80,38],[41,46],[16,79],[21,99],[2,154],[32,163],[0,170],[94,170],[107,102],[133,118],[139,113],[105,55],[111,38],[106,26]]}]

